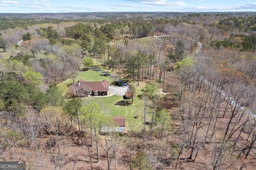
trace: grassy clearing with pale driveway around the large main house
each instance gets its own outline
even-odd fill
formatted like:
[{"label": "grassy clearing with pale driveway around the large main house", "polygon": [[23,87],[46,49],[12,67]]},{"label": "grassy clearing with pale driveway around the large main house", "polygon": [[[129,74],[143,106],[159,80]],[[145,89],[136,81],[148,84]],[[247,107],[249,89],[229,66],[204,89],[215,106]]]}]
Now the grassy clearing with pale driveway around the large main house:
[{"label": "grassy clearing with pale driveway around the large main house", "polygon": [[[104,79],[112,82],[113,78],[102,74],[98,71],[81,71],[78,72],[76,81],[83,79],[85,81],[102,81]],[[57,85],[62,91],[62,94],[65,95],[68,91],[69,86],[73,84],[71,79],[67,79]],[[84,105],[89,104],[93,101],[101,105],[101,111],[106,116],[125,116],[127,126],[129,126],[130,122],[132,122],[134,126],[134,131],[140,131],[143,128],[143,102],[138,97],[142,94],[142,89],[145,87],[145,83],[140,83],[141,85],[137,88],[137,96],[133,100],[133,104],[126,105],[125,100],[123,99],[122,93],[126,91],[126,87],[114,87],[110,86],[110,90],[115,90],[113,94],[116,95],[110,97],[85,97],[82,98]],[[118,95],[118,96],[117,96]],[[127,115],[126,115],[127,114]],[[135,115],[139,115],[139,119],[135,119]],[[150,114],[147,115],[147,120],[150,121]],[[132,121],[129,121],[132,120]],[[128,127],[127,127],[128,128]]]}]

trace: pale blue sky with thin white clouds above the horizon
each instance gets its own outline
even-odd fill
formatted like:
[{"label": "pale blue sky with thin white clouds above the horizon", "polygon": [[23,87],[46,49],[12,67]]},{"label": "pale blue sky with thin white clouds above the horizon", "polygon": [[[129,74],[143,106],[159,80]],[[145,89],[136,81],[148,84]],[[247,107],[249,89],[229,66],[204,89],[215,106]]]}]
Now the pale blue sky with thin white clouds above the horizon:
[{"label": "pale blue sky with thin white clouds above the horizon", "polygon": [[0,13],[41,12],[239,12],[256,11],[256,0],[33,0],[1,1]]}]

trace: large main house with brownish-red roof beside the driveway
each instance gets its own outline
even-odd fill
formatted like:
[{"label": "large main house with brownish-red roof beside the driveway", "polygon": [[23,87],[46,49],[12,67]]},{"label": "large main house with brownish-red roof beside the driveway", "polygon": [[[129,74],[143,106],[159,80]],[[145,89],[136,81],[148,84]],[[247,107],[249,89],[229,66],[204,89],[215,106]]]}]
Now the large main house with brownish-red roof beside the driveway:
[{"label": "large main house with brownish-red roof beside the driveway", "polygon": [[110,82],[107,80],[102,81],[84,81],[79,80],[70,86],[68,94],[74,97],[85,96],[107,96],[109,95]]}]

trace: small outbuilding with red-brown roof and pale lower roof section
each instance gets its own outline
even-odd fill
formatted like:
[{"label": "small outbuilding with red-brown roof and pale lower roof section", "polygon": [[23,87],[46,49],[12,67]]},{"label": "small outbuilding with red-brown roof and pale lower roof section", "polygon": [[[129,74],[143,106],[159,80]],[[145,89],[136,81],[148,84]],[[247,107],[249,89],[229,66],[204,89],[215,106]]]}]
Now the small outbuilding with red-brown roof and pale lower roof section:
[{"label": "small outbuilding with red-brown roof and pale lower roof section", "polygon": [[110,126],[103,126],[101,128],[100,133],[106,134],[106,133],[125,133],[126,132],[126,119],[124,116],[113,116],[111,119],[114,122],[114,127]]}]

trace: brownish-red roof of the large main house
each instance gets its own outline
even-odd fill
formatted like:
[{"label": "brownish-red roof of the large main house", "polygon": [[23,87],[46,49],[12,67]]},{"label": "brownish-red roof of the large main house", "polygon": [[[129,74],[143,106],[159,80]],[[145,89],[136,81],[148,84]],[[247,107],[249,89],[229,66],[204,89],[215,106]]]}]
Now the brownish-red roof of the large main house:
[{"label": "brownish-red roof of the large main house", "polygon": [[79,80],[70,86],[69,91],[75,92],[77,88],[83,88],[86,91],[109,91],[109,81],[84,81]]}]

